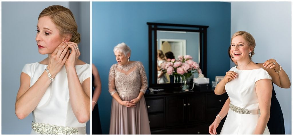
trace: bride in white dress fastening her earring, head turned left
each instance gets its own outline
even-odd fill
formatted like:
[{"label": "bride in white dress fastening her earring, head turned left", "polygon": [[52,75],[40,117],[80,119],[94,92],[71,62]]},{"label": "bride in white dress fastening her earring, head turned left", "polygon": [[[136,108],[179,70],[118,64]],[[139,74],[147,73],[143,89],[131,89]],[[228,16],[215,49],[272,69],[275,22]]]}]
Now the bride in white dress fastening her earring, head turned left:
[{"label": "bride in white dress fastening her earring, head turned left", "polygon": [[33,113],[31,134],[86,134],[91,71],[78,59],[80,35],[74,16],[68,8],[49,6],[40,13],[36,31],[38,51],[48,57],[24,66],[16,116],[23,119]]}]

